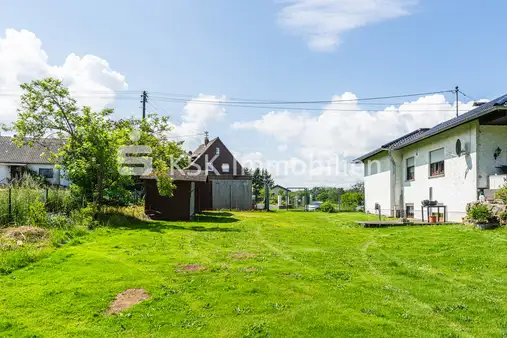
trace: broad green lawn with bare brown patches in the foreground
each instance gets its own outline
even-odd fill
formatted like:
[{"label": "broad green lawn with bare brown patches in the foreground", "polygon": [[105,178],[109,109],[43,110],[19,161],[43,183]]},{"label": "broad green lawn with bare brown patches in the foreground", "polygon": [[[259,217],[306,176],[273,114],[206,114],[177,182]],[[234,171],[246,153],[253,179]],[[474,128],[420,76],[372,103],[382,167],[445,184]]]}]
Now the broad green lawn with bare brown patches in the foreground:
[{"label": "broad green lawn with bare brown patches in the foreground", "polygon": [[[507,336],[505,229],[352,222],[367,218],[214,213],[100,228],[0,276],[0,335]],[[129,288],[152,299],[105,315]]]}]

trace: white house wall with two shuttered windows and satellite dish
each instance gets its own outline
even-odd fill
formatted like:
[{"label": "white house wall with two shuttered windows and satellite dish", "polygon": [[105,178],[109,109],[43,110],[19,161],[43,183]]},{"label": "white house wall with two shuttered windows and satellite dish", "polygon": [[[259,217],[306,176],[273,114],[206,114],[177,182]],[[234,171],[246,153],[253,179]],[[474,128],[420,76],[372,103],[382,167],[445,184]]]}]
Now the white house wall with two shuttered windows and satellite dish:
[{"label": "white house wall with two shuttered windows and satellite dish", "polygon": [[[470,122],[400,150],[404,175],[404,207],[413,204],[416,219],[421,218],[421,202],[430,198],[430,188],[433,190],[433,200],[447,205],[450,221],[461,221],[461,217],[466,214],[467,203],[477,199],[477,126],[477,122]],[[463,147],[466,145],[469,150],[468,156],[456,156],[458,138]],[[442,147],[445,154],[445,176],[430,177],[429,153]],[[406,159],[410,157],[415,158],[413,181],[406,180]]]}]

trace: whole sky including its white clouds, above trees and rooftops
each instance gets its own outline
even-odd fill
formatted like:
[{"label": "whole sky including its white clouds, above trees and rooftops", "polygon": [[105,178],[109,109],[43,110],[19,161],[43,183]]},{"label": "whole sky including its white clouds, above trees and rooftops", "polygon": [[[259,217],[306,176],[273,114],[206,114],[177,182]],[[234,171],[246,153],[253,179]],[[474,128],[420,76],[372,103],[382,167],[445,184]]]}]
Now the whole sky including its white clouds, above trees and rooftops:
[{"label": "whole sky including its white clouds, above trees and rooftops", "polygon": [[278,184],[346,187],[362,179],[353,158],[455,116],[448,92],[361,99],[459,85],[465,112],[507,92],[505,10],[473,0],[2,0],[0,122],[15,120],[19,84],[46,76],[116,117],[140,116],[146,90],[148,110],[170,116],[170,137],[189,150],[208,131]]}]

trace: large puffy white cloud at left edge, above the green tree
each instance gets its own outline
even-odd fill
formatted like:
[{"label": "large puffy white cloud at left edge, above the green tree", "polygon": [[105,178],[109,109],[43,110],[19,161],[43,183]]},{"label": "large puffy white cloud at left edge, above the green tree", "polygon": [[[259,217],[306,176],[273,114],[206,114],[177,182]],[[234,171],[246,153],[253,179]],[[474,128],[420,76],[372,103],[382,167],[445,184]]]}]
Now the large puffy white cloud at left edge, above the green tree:
[{"label": "large puffy white cloud at left edge, above the green tree", "polygon": [[80,104],[94,109],[114,102],[114,91],[127,88],[125,76],[111,70],[104,59],[70,54],[62,65],[50,65],[34,33],[7,29],[0,36],[0,91],[4,94],[0,95],[0,122],[15,119],[21,83],[47,76],[61,79]]}]

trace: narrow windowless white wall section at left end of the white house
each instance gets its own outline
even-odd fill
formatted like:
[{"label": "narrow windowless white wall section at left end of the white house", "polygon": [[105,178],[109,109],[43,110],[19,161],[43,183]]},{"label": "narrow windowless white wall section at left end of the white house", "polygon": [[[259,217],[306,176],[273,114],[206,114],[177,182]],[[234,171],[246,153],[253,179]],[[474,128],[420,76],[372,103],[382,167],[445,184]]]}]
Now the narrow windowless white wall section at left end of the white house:
[{"label": "narrow windowless white wall section at left end of the white house", "polygon": [[[364,209],[369,213],[377,213],[375,203],[380,204],[381,213],[392,214],[392,174],[391,161],[387,152],[373,156],[364,164]],[[393,185],[394,186],[394,185]]]}]

